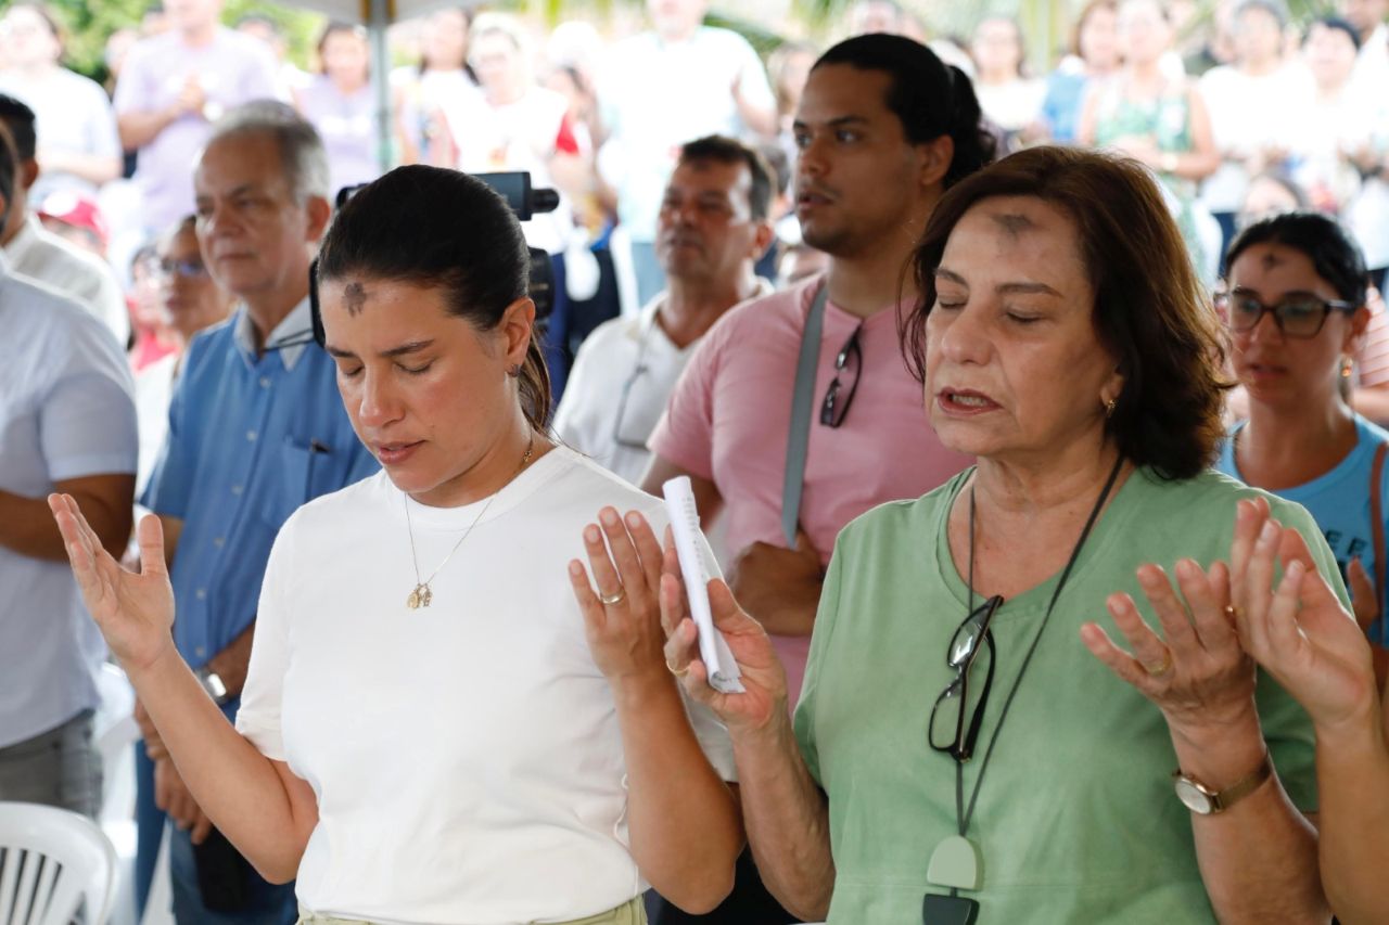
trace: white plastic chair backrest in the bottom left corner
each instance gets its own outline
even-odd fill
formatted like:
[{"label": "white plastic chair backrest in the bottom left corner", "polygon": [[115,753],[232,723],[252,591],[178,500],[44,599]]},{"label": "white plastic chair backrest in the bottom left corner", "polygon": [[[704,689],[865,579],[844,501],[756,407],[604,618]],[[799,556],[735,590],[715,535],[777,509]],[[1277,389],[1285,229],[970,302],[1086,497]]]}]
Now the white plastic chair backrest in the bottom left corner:
[{"label": "white plastic chair backrest in the bottom left corner", "polygon": [[111,914],[115,849],[90,819],[35,803],[0,803],[0,925],[89,925]]}]

